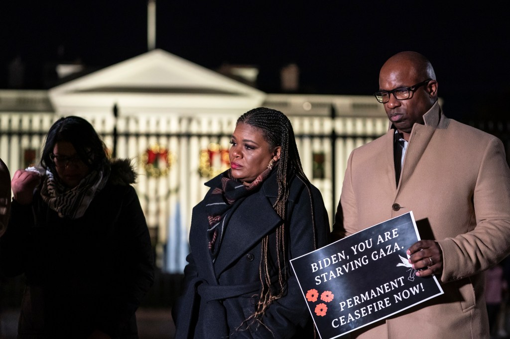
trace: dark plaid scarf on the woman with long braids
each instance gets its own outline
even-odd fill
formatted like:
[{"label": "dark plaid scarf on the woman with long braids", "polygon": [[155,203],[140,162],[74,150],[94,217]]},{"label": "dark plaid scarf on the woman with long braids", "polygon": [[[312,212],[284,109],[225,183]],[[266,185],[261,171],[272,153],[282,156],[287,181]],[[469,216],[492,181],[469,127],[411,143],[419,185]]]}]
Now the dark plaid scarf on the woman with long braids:
[{"label": "dark plaid scarf on the woman with long braids", "polygon": [[[272,166],[272,168],[275,167],[275,165]],[[267,170],[262,172],[248,186],[244,186],[240,181],[234,179],[234,177],[232,177],[232,170],[228,170],[222,174],[220,186],[215,187],[205,197],[207,203],[206,211],[209,219],[207,236],[213,263],[218,256],[225,227],[232,216],[232,212],[234,212],[239,203],[242,202],[247,195],[260,186],[269,176],[272,168],[267,168]]]}]

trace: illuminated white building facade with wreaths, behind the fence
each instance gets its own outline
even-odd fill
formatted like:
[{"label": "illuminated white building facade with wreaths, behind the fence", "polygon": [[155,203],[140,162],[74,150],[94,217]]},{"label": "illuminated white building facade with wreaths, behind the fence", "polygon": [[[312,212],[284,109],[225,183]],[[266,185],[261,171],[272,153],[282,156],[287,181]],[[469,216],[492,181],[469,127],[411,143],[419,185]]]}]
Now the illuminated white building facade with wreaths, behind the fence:
[{"label": "illuminated white building facade with wreaths, behind the fence", "polygon": [[0,91],[0,157],[12,175],[39,159],[56,119],[86,118],[113,155],[133,160],[158,264],[179,272],[203,184],[228,168],[236,120],[259,106],[290,118],[333,221],[349,153],[387,131],[382,105],[371,96],[266,94],[159,49],[49,91]]}]

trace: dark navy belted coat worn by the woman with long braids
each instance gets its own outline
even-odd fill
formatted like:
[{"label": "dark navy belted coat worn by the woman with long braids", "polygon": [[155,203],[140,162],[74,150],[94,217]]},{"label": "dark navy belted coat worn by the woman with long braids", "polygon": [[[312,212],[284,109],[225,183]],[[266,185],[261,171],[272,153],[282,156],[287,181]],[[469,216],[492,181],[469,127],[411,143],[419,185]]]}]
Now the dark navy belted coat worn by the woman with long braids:
[{"label": "dark navy belted coat worn by the woman with long braids", "polygon": [[[261,240],[266,235],[271,279],[277,282],[275,230],[282,219],[272,207],[278,194],[275,172],[233,211],[214,264],[208,248],[205,202],[193,209],[186,290],[172,309],[176,339],[313,337],[312,318],[289,260],[326,245],[329,222],[319,190],[312,185],[308,188],[298,177],[290,179],[285,228],[288,288],[268,307],[263,324],[241,326],[253,314],[260,293]],[[217,187],[220,180],[218,176],[206,185]]]}]

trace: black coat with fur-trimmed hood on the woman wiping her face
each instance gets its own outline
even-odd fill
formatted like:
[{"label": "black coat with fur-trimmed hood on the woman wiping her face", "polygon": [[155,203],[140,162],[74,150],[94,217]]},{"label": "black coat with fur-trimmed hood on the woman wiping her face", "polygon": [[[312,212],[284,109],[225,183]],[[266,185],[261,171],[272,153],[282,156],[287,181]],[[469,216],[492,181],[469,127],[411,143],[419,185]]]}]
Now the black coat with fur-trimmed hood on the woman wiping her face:
[{"label": "black coat with fur-trimmed hood on the woman wiping her face", "polygon": [[12,202],[0,239],[0,269],[24,273],[18,338],[86,338],[101,330],[137,338],[135,310],[154,279],[152,248],[127,161],[112,164],[107,185],[84,216],[60,218],[34,193]]}]

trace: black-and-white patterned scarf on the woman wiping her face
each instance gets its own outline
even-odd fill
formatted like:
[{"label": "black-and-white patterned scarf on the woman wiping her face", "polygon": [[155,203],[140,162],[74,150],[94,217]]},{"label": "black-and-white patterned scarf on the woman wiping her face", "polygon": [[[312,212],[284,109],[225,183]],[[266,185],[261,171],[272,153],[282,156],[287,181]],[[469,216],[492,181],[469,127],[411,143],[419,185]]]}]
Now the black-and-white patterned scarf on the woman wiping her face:
[{"label": "black-and-white patterned scarf on the woman wiping her face", "polygon": [[93,197],[105,187],[110,171],[92,171],[74,188],[68,189],[46,171],[41,188],[42,200],[61,218],[77,219],[85,214]]}]

